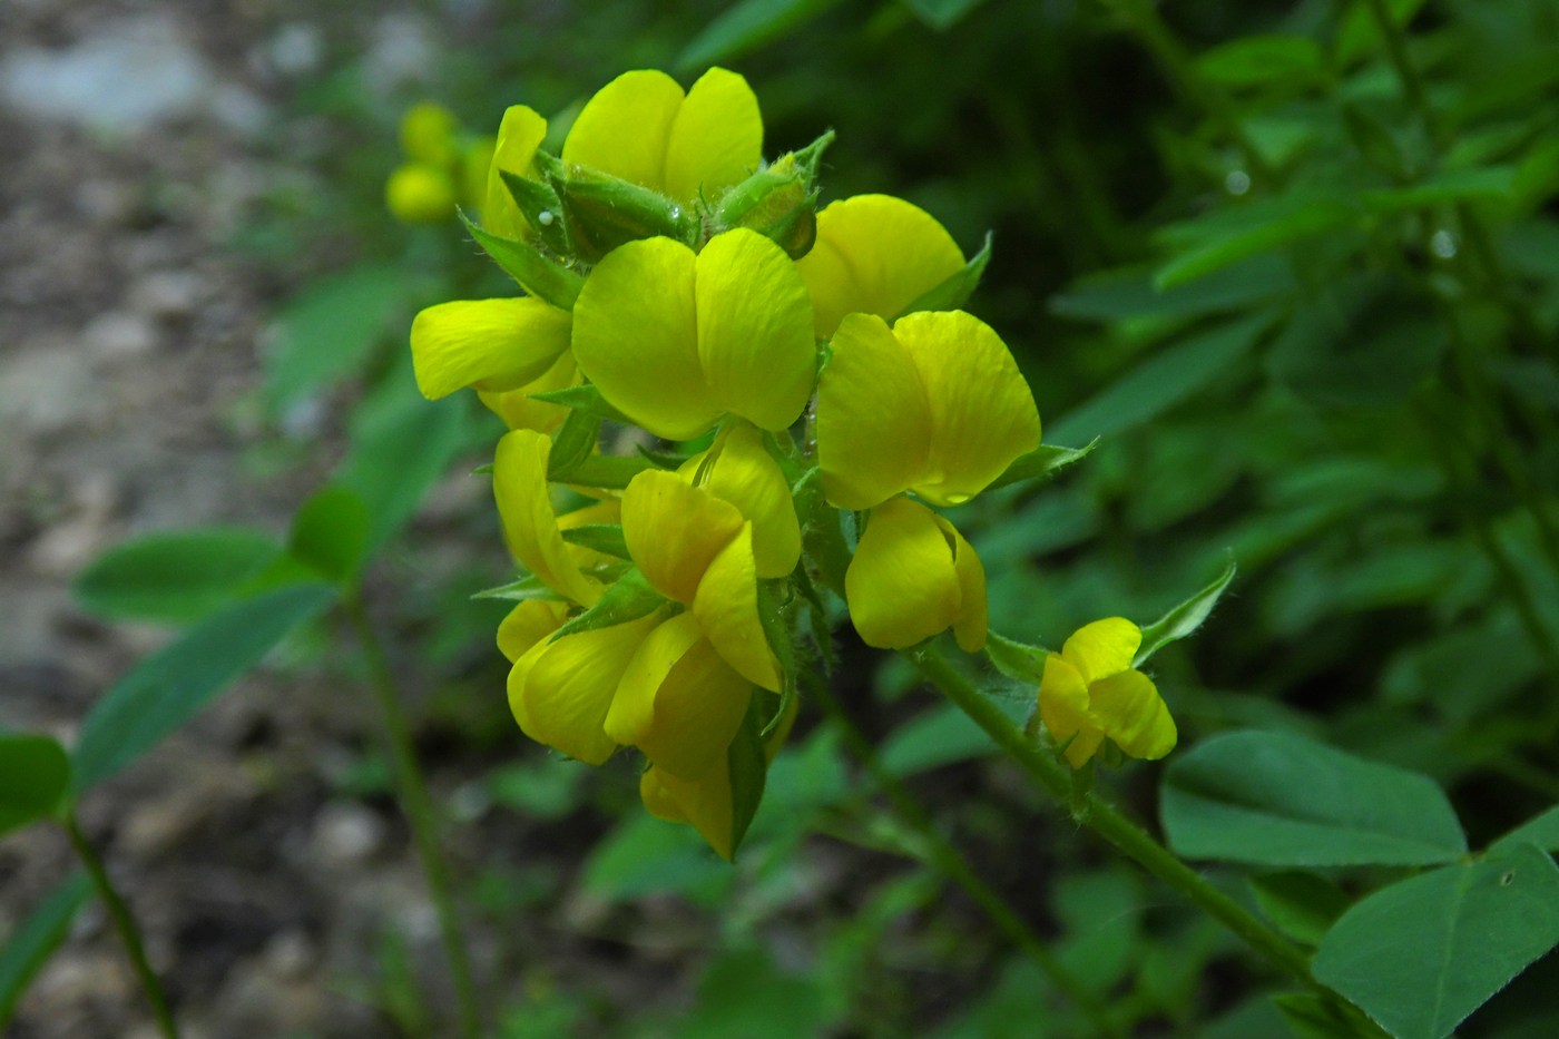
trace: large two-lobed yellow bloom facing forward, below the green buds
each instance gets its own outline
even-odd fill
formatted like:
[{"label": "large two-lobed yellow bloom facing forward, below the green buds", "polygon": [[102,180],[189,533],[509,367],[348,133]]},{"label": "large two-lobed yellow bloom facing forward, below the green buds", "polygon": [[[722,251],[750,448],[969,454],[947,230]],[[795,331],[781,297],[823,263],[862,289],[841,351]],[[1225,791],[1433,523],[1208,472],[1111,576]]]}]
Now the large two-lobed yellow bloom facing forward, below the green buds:
[{"label": "large two-lobed yellow bloom facing forward, below the green buds", "polygon": [[574,357],[656,437],[691,440],[725,415],[778,431],[812,395],[812,304],[790,257],[755,231],[717,234],[698,254],[641,239],[585,282]]}]

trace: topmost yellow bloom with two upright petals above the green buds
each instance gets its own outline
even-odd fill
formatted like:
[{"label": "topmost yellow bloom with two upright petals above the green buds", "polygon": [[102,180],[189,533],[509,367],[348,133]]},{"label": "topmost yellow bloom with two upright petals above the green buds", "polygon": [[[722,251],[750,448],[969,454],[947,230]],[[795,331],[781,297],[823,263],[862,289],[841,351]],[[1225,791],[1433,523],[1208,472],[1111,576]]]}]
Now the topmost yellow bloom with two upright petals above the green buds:
[{"label": "topmost yellow bloom with two upright petals above the green buds", "polygon": [[709,69],[688,94],[664,72],[625,72],[592,97],[563,162],[633,181],[681,203],[714,200],[762,161],[764,123],[747,80]]}]

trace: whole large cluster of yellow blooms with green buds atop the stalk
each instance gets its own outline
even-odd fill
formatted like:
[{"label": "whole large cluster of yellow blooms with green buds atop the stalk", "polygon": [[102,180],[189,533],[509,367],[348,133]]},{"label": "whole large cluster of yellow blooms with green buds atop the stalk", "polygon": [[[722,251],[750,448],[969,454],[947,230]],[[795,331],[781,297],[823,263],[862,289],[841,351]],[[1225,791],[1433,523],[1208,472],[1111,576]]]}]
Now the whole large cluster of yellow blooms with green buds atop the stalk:
[{"label": "whole large cluster of yellow blooms with green buds atop the stalk", "polygon": [[[765,162],[742,76],[630,72],[560,154],[546,133],[505,112],[468,222],[524,295],[422,310],[418,384],[472,387],[510,427],[521,729],[592,764],[636,747],[645,807],[730,858],[820,652],[798,635],[820,588],[870,646],[985,644],[985,571],[937,509],[1038,451],[1038,410],[959,309],[985,254],[889,195],[818,211],[831,134]],[[603,423],[661,446],[603,452]]]}]

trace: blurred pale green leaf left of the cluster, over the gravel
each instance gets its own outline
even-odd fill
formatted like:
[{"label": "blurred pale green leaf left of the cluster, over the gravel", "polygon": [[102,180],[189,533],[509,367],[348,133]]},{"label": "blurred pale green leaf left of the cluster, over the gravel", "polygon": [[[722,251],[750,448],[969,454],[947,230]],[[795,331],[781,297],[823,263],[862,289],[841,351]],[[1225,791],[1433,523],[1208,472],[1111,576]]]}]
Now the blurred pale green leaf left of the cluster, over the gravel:
[{"label": "blurred pale green leaf left of the cluster, over the gravel", "polygon": [[405,309],[404,268],[384,262],[329,275],[288,300],[265,360],[271,404],[287,407],[360,371]]}]

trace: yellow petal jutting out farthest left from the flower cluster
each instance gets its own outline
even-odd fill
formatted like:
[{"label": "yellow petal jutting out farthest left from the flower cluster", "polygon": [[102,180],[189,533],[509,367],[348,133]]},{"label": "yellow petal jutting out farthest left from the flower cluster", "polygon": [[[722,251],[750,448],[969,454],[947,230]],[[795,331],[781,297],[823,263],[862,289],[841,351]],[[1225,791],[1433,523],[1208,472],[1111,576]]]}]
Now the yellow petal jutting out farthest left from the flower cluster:
[{"label": "yellow petal jutting out farthest left from the flower cluster", "polygon": [[567,310],[535,296],[457,300],[412,321],[412,367],[422,396],[468,385],[513,390],[546,373],[569,348]]}]

